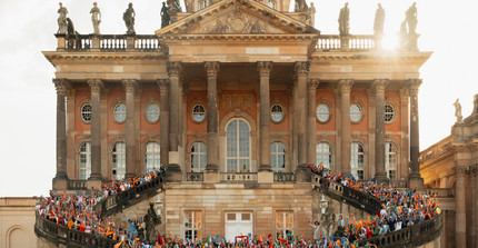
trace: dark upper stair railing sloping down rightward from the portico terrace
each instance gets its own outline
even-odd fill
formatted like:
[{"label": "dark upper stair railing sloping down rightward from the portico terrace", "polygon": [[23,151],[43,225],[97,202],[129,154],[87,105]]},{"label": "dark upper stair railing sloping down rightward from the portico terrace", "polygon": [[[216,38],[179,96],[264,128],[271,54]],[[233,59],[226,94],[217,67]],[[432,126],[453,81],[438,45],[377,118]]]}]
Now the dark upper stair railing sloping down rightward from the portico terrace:
[{"label": "dark upper stair railing sloping down rightward from the portico terrace", "polygon": [[315,176],[313,182],[316,183],[316,188],[320,189],[321,192],[336,200],[345,200],[346,204],[351,205],[358,209],[364,209],[370,215],[377,215],[380,211],[380,201],[369,194],[346,187],[341,183],[319,176]]}]

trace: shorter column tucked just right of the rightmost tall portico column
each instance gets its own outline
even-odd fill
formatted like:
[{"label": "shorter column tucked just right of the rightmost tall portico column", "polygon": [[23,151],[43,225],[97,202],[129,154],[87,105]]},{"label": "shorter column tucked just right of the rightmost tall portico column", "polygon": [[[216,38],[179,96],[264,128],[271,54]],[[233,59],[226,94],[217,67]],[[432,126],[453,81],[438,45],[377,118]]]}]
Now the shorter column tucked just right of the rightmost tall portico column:
[{"label": "shorter column tucked just right of the rightmost tall portico column", "polygon": [[316,165],[317,146],[316,96],[318,85],[319,79],[309,79],[307,83],[307,163],[313,165]]}]

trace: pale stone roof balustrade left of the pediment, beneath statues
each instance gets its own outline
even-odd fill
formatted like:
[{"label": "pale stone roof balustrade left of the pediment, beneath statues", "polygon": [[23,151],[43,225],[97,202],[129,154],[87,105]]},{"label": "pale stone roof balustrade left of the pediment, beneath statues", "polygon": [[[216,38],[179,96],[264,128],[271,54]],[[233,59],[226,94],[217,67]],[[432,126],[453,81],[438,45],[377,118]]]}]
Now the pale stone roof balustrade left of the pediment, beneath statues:
[{"label": "pale stone roof balustrade left of the pediment, beneath statues", "polygon": [[155,34],[56,34],[57,50],[67,51],[162,51]]}]

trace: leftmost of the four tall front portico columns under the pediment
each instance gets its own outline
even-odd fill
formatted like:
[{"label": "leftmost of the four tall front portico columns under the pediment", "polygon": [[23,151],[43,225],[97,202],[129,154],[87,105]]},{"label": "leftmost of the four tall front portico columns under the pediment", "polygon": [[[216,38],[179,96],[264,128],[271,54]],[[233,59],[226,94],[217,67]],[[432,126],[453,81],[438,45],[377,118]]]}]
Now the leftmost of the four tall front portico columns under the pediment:
[{"label": "leftmost of the four tall front portico columns under the pediment", "polygon": [[179,166],[179,78],[182,72],[181,62],[170,61],[167,63],[169,86],[169,162],[166,179],[168,181],[180,181],[182,179]]}]

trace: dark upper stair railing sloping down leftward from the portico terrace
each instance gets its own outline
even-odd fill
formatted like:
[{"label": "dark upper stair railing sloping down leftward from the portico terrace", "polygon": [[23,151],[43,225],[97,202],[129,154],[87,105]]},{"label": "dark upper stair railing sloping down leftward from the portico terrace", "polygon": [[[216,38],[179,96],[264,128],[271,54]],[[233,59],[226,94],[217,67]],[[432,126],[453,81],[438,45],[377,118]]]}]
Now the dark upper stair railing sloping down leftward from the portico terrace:
[{"label": "dark upper stair railing sloping down leftward from the portico terrace", "polygon": [[103,216],[111,216],[139,202],[145,196],[152,196],[157,189],[162,189],[162,176],[158,176],[150,181],[131,187],[122,192],[106,197],[93,206],[93,210]]}]

